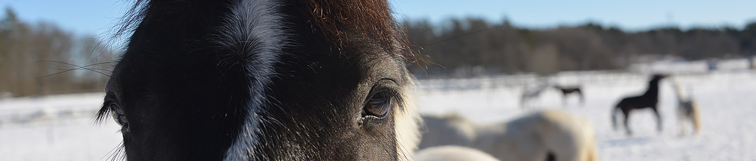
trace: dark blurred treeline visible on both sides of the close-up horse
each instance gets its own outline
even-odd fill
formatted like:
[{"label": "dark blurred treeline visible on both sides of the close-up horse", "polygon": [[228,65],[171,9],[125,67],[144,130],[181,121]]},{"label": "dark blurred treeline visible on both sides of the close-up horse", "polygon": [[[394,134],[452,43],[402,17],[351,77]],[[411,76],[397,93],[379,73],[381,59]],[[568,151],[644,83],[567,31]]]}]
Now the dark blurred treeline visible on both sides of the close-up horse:
[{"label": "dark blurred treeline visible on both sides of the close-up horse", "polygon": [[[443,25],[409,20],[404,26],[417,45],[414,50],[431,62],[411,66],[412,72],[429,75],[616,70],[658,57],[701,60],[756,53],[756,22],[743,29],[640,32],[596,23],[525,29],[507,20],[479,18],[450,19]],[[112,60],[113,51],[91,36],[76,36],[52,23],[23,22],[9,8],[0,15],[0,98],[101,91]],[[76,67],[95,63],[102,64]]]}]

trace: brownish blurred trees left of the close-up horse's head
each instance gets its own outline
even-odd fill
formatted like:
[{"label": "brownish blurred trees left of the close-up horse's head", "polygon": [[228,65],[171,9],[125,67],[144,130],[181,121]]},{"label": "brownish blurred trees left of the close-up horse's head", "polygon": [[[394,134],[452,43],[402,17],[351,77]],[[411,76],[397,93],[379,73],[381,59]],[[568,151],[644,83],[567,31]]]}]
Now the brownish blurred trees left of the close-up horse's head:
[{"label": "brownish blurred trees left of the close-up horse's head", "polygon": [[95,71],[110,73],[104,71],[110,64],[75,66],[111,60],[98,39],[53,23],[23,22],[10,8],[0,16],[0,98],[102,91],[107,76]]}]

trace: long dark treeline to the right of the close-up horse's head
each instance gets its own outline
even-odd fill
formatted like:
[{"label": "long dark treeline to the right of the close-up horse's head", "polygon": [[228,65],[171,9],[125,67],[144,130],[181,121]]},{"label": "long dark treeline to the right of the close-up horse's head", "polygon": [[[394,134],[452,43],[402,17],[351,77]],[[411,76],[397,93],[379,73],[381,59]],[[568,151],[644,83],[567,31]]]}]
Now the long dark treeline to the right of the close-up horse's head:
[{"label": "long dark treeline to the right of the close-up horse's head", "polygon": [[[562,70],[616,70],[657,57],[701,60],[745,57],[756,53],[756,22],[732,27],[679,29],[659,27],[626,32],[596,23],[525,29],[507,20],[455,18],[442,24],[404,21],[416,51],[436,64],[413,72],[449,74],[541,73]],[[445,68],[443,68],[445,67]],[[480,71],[478,71],[480,72]]]}]

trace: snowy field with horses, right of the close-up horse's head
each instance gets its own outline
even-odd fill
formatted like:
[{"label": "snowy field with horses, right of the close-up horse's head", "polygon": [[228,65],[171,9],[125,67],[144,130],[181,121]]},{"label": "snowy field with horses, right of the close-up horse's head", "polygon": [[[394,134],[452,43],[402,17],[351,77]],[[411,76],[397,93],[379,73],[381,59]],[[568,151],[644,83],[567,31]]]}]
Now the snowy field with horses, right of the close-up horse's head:
[{"label": "snowy field with horses, right of the close-up horse's head", "polygon": [[[569,77],[554,79],[570,82],[566,81],[572,79]],[[743,71],[675,76],[699,102],[703,122],[699,135],[680,135],[677,98],[671,79],[662,81],[658,108],[663,131],[656,132],[655,118],[650,109],[634,110],[629,123],[634,130],[631,137],[612,130],[610,113],[621,98],[643,94],[648,76],[618,77],[623,79],[581,84],[586,97],[584,105],[579,104],[576,96],[568,98],[567,104],[562,105],[561,93],[552,88],[544,91],[536,101],[526,104],[528,108],[523,110],[519,107],[522,87],[485,85],[491,84],[490,79],[461,81],[472,84],[466,85],[468,87],[488,88],[451,90],[421,87],[417,103],[420,104],[421,113],[460,113],[480,124],[505,122],[543,108],[566,110],[593,122],[601,160],[756,160],[756,73]],[[425,84],[448,81],[421,80]],[[687,132],[690,132],[691,127],[687,125]]]}]

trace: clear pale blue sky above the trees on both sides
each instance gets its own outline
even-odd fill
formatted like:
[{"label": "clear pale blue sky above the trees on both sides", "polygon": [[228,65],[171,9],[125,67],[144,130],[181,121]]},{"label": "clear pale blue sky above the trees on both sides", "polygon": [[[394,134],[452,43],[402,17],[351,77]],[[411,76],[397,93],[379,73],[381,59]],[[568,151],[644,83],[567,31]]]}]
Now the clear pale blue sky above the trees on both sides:
[{"label": "clear pale blue sky above the trees on both sides", "polygon": [[[390,0],[398,17],[427,18],[434,23],[448,17],[482,17],[516,26],[550,27],[592,20],[621,29],[640,30],[674,24],[742,27],[756,21],[756,1],[491,1]],[[120,0],[0,0],[26,21],[51,21],[78,34],[102,35],[125,8]]]}]

